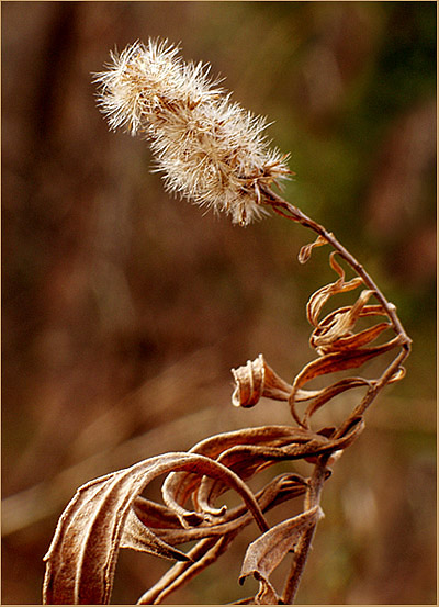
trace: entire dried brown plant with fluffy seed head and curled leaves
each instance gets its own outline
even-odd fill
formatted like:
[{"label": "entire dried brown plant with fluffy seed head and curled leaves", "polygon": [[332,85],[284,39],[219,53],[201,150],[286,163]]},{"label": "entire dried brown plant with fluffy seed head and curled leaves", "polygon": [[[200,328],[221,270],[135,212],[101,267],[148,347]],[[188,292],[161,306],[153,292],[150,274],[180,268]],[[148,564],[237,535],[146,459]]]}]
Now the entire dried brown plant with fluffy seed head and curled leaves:
[{"label": "entire dried brown plant with fluffy seed head and curled leaves", "polygon": [[[239,582],[252,575],[259,592],[235,604],[293,604],[323,516],[320,494],[329,467],[362,432],[364,413],[381,390],[404,375],[410,339],[395,306],[331,233],[271,189],[290,173],[286,156],[269,149],[261,135],[264,122],[232,104],[207,71],[201,64],[184,64],[177,48],[165,43],[135,44],[112,55],[112,65],[97,76],[100,104],[111,127],[125,126],[150,140],[169,190],[230,214],[241,225],[271,209],[312,229],[317,237],[301,249],[301,263],[315,247],[331,248],[329,263],[337,278],[317,290],[306,306],[316,358],[291,384],[262,355],[233,370],[235,406],[251,407],[262,396],[284,401],[293,425],[212,436],[188,452],[149,458],[81,486],[61,515],[45,557],[45,604],[108,604],[121,548],[177,561],[137,602],[159,604],[216,561],[252,522],[257,536],[248,546]],[[347,279],[345,267],[353,271],[352,278]],[[353,303],[323,315],[329,301],[358,290]],[[333,379],[372,359],[382,361],[376,376],[345,373]],[[327,378],[326,385],[309,390],[307,384],[319,376]],[[315,428],[315,414],[348,391],[356,397],[342,421]],[[312,467],[308,476],[283,473],[256,493],[248,486],[268,467],[294,460]],[[162,474],[159,504],[142,494]],[[229,490],[243,504],[218,507],[218,498]],[[293,499],[302,499],[301,514],[269,528],[264,514]],[[178,547],[187,542],[194,544],[183,552]],[[288,557],[290,573],[283,589],[277,591],[270,575]]]}]

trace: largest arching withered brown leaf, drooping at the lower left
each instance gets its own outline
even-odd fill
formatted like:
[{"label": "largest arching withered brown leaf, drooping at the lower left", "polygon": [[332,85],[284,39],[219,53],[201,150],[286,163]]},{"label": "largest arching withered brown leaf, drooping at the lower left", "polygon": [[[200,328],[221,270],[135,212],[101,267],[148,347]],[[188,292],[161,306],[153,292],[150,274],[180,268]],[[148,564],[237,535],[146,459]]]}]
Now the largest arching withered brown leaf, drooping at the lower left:
[{"label": "largest arching withered brown leaf, drooping at the lower left", "polygon": [[[45,557],[44,604],[109,603],[130,508],[153,479],[172,470],[196,471],[221,479],[241,495],[261,530],[268,529],[254,494],[227,468],[195,453],[166,453],[150,458],[91,481],[77,491],[58,521]],[[151,532],[151,544],[153,536]],[[156,547],[160,552],[162,541]]]}]

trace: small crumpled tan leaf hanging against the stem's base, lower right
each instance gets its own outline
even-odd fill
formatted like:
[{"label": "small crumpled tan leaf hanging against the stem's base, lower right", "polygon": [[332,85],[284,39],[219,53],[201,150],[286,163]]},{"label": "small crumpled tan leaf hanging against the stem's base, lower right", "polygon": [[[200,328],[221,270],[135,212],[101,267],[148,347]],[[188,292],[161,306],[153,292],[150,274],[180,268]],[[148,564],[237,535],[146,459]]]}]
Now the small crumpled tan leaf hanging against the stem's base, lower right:
[{"label": "small crumpled tan leaf hanging against the stem's base, lower right", "polygon": [[[260,591],[255,597],[257,605],[268,604],[267,599],[273,603],[277,599],[275,592],[270,584],[269,577],[284,557],[294,550],[302,533],[314,527],[323,517],[319,506],[315,506],[293,518],[289,518],[262,533],[250,543],[244,558],[239,575],[239,583],[243,584],[248,575],[254,575],[260,583]],[[273,593],[275,596],[273,596]],[[274,604],[277,600],[274,600]]]}]

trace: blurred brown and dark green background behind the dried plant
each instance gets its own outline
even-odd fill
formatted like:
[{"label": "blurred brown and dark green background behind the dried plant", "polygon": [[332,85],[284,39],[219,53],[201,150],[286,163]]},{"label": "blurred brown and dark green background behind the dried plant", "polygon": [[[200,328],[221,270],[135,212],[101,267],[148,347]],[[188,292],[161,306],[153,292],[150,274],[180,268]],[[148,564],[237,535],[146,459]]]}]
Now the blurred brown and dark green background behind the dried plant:
[{"label": "blurred brown and dark green background behind the dried plant", "polygon": [[[282,403],[232,407],[229,370],[263,352],[291,380],[314,357],[304,306],[334,279],[324,249],[296,260],[314,236],[170,199],[145,142],[110,133],[95,106],[110,49],[160,36],[275,121],[296,173],[285,198],[361,260],[414,340],[406,379],[325,487],[297,603],[436,605],[436,2],[1,9],[2,603],[41,604],[42,558],[80,484],[290,423]],[[237,584],[245,549],[169,603],[252,594]],[[168,566],[123,551],[113,602],[135,603]]]}]

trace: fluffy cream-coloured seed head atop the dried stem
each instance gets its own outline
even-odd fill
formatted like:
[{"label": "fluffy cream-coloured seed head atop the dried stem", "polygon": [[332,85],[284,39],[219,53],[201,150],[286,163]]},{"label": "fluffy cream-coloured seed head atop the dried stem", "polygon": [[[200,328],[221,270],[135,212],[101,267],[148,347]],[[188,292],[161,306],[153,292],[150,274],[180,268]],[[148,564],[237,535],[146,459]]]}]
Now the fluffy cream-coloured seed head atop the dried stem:
[{"label": "fluffy cream-coloured seed head atop the dried stem", "polygon": [[99,103],[111,128],[143,133],[167,189],[248,225],[263,213],[263,187],[291,173],[286,156],[261,135],[266,121],[246,112],[166,42],[135,43],[98,74]]}]

